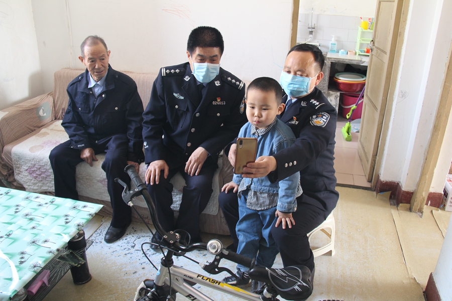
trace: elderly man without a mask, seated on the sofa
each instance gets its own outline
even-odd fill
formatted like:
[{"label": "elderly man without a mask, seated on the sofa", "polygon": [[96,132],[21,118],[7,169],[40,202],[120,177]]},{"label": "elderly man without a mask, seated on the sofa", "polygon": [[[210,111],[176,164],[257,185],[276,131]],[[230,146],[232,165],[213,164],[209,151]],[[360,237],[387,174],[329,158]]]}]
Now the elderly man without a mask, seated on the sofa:
[{"label": "elderly man without a mask, seated on the sofa", "polygon": [[143,162],[143,103],[137,85],[108,64],[110,51],[103,39],[87,37],[80,46],[79,60],[86,66],[67,87],[69,104],[62,125],[69,140],[52,149],[55,196],[77,200],[75,166],[92,166],[96,155],[105,153],[102,169],[107,178],[113,216],[105,233],[107,243],[120,239],[131,223],[131,209],[122,199],[120,178],[130,183],[124,172],[128,164],[136,169]]}]

